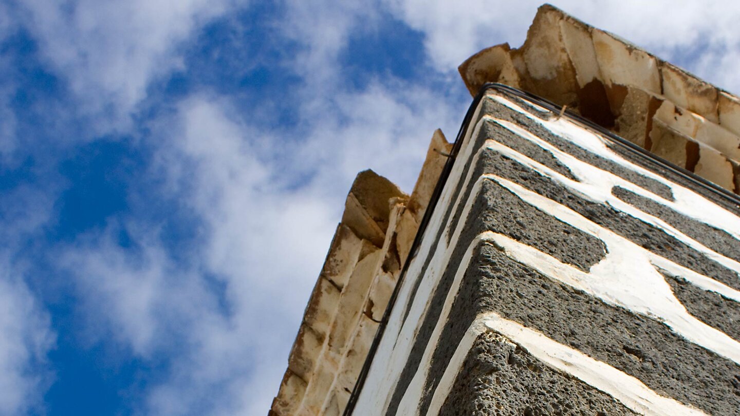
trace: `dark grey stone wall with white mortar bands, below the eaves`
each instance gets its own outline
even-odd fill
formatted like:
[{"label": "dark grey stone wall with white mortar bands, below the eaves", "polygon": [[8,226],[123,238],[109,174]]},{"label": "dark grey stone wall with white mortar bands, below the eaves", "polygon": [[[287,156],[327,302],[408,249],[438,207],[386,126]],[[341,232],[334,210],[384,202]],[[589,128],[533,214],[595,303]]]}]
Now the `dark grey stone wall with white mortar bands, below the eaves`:
[{"label": "dark grey stone wall with white mortar bands, below the eaves", "polygon": [[489,93],[353,415],[739,415],[740,209]]}]

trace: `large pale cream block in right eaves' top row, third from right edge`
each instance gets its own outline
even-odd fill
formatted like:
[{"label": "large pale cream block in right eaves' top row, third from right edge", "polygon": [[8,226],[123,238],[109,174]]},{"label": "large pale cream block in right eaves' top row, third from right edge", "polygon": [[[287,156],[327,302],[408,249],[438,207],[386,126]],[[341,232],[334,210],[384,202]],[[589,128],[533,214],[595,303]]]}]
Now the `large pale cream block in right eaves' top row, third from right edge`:
[{"label": "large pale cream block in right eaves' top row, third from right edge", "polygon": [[591,30],[591,37],[606,85],[631,85],[648,93],[661,93],[656,58],[602,30]]}]

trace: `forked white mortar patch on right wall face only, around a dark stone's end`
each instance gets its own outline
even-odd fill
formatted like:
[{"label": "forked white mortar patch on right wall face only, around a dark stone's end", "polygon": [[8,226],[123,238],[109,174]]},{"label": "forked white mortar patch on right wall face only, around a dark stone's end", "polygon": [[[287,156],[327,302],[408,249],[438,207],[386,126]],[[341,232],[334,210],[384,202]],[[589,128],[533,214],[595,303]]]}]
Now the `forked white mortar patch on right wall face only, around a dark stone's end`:
[{"label": "forked white mortar patch on right wall face only, around a dark stone's end", "polygon": [[[497,181],[542,212],[600,238],[608,249],[606,257],[585,273],[534,247],[505,235],[496,235],[494,241],[505,247],[511,258],[606,303],[665,322],[683,338],[740,364],[740,343],[687,312],[665,278],[653,266],[652,260],[659,256],[519,184],[495,175],[486,175],[485,178]],[[662,264],[669,269],[670,263],[662,258]]]}]

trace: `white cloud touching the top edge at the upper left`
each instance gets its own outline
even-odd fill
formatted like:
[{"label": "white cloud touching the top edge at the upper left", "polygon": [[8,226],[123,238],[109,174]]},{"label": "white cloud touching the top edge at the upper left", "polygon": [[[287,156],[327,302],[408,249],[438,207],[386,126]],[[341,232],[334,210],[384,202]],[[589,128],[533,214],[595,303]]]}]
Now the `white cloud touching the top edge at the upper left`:
[{"label": "white cloud touching the top edge at the upper left", "polygon": [[21,22],[101,128],[125,126],[149,83],[182,67],[181,46],[231,0],[22,2]]}]

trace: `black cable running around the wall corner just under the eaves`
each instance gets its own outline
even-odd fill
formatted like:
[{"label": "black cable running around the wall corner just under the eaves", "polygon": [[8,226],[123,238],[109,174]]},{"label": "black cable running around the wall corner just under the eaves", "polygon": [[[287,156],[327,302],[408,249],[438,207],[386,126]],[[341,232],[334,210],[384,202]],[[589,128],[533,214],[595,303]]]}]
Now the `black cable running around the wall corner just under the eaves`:
[{"label": "black cable running around the wall corner just under the eaves", "polygon": [[[393,293],[391,294],[391,298],[388,299],[386,312],[383,313],[383,319],[378,325],[377,332],[375,333],[375,338],[373,338],[372,344],[368,351],[368,356],[365,360],[365,363],[363,364],[363,368],[360,370],[360,375],[357,376],[357,383],[354,384],[354,389],[352,389],[351,395],[349,396],[347,406],[344,408],[343,416],[350,416],[354,411],[354,406],[357,404],[357,397],[360,396],[360,392],[365,385],[365,380],[367,378],[368,372],[370,371],[370,366],[372,365],[373,359],[375,358],[377,348],[380,345],[380,339],[383,338],[383,332],[385,332],[386,330],[386,325],[388,324],[388,319],[390,318],[391,312],[393,311],[393,306],[396,303],[398,293],[400,292],[401,285],[403,284],[403,279],[406,278],[408,265],[411,264],[411,259],[414,258],[417,250],[419,249],[419,245],[421,244],[421,240],[423,238],[424,232],[426,231],[426,227],[428,226],[428,223],[431,220],[431,215],[434,212],[434,207],[437,207],[437,202],[439,201],[440,195],[442,195],[442,190],[447,183],[447,179],[452,170],[452,165],[454,164],[455,158],[457,157],[457,152],[460,151],[460,146],[462,146],[462,139],[468,132],[468,126],[471,122],[471,119],[473,118],[473,114],[475,113],[480,100],[485,96],[488,90],[497,90],[499,92],[515,95],[519,98],[524,99],[525,101],[530,101],[533,104],[544,107],[545,109],[550,110],[551,112],[556,114],[559,114],[562,111],[562,107],[558,106],[552,101],[505,84],[489,82],[483,84],[482,87],[480,87],[480,90],[478,90],[475,98],[473,98],[473,102],[471,103],[470,107],[468,107],[468,112],[465,113],[465,118],[463,118],[462,120],[460,130],[458,130],[457,137],[455,138],[454,144],[452,145],[452,151],[448,156],[445,167],[440,173],[440,178],[437,181],[437,185],[434,187],[434,192],[431,194],[429,204],[426,208],[426,211],[424,212],[424,216],[419,224],[419,228],[417,229],[417,235],[414,238],[414,243],[411,244],[411,249],[409,249],[408,252],[408,258],[406,258],[406,261],[403,264],[403,269],[401,269],[398,281],[395,288],[393,289]],[[576,121],[578,124],[581,124],[583,127],[586,127],[589,130],[593,130],[600,135],[604,135],[616,144],[619,144],[620,146],[625,147],[630,151],[636,152],[638,155],[641,155],[642,157],[647,159],[647,161],[649,161],[650,163],[656,164],[666,170],[672,170],[688,181],[698,184],[700,187],[705,187],[719,197],[730,201],[730,203],[740,205],[739,195],[736,195],[733,192],[728,191],[727,189],[719,187],[718,185],[713,184],[712,182],[707,181],[706,179],[697,176],[693,172],[685,170],[684,168],[679,167],[676,164],[665,160],[664,158],[660,158],[659,156],[648,152],[642,147],[639,147],[636,144],[633,144],[632,142],[627,141],[624,138],[619,137],[618,135],[615,135],[613,132],[606,130],[604,127],[593,123],[593,121],[583,118],[581,115],[572,113],[570,111],[565,111],[562,116],[568,117],[571,120]]]}]

